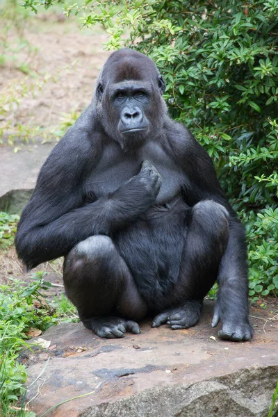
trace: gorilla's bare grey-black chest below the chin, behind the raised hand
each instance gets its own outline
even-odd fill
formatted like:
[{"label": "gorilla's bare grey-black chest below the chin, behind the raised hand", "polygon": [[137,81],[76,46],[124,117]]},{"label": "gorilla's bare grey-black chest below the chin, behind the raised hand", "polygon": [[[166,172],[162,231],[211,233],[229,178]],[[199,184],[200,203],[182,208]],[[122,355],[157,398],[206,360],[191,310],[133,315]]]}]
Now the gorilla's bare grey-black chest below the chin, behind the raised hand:
[{"label": "gorilla's bare grey-black chest below the chin, behind the raised hand", "polygon": [[107,147],[97,166],[92,167],[85,181],[87,201],[105,197],[140,172],[142,161],[148,160],[161,174],[162,184],[156,202],[163,204],[179,194],[183,174],[172,158],[158,145],[148,145],[136,154],[124,154],[117,147]]}]

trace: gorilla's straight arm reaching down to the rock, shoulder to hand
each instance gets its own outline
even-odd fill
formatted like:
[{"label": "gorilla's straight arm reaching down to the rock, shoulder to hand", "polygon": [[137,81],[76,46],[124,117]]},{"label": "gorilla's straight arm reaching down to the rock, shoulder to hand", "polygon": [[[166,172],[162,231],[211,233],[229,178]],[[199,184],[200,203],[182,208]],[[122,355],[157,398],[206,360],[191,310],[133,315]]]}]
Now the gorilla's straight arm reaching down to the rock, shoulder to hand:
[{"label": "gorilla's straight arm reaching down to the rock, shoulder to hand", "polygon": [[184,170],[189,180],[186,187],[188,204],[194,205],[203,199],[212,199],[229,211],[229,241],[218,272],[218,300],[212,327],[222,320],[222,338],[248,340],[252,337],[253,329],[248,318],[245,229],[220,188],[211,158],[190,133],[186,132],[186,138]]}]

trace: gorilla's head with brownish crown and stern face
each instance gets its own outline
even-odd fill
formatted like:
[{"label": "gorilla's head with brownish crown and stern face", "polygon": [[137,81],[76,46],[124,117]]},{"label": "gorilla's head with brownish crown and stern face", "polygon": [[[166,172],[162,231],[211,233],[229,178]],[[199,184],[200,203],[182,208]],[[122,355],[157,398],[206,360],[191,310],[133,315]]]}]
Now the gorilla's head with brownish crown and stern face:
[{"label": "gorilla's head with brownish crown and stern face", "polygon": [[131,151],[163,127],[165,83],[154,62],[132,49],[115,51],[106,61],[95,93],[99,121],[108,136]]}]

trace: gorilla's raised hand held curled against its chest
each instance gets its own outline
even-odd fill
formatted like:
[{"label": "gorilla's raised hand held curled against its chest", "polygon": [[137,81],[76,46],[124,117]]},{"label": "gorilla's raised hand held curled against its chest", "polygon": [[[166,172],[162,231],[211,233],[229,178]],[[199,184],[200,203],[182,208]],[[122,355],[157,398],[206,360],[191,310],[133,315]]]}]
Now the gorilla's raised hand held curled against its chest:
[{"label": "gorilla's raised hand held curled against its chest", "polygon": [[117,199],[122,211],[140,215],[154,204],[160,188],[160,174],[154,165],[144,161],[139,174],[120,186],[113,193],[113,199]]}]

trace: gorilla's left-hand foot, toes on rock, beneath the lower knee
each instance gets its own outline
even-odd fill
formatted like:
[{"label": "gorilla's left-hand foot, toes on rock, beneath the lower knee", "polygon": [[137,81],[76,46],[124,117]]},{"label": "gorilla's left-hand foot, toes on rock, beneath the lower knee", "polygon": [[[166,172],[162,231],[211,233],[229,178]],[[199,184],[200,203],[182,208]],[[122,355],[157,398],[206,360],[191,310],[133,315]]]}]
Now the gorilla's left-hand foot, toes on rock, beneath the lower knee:
[{"label": "gorilla's left-hand foot, toes on rock, beneath the lower knee", "polygon": [[92,317],[82,318],[81,321],[87,329],[92,330],[99,337],[121,338],[126,332],[140,333],[138,323],[119,317]]}]

